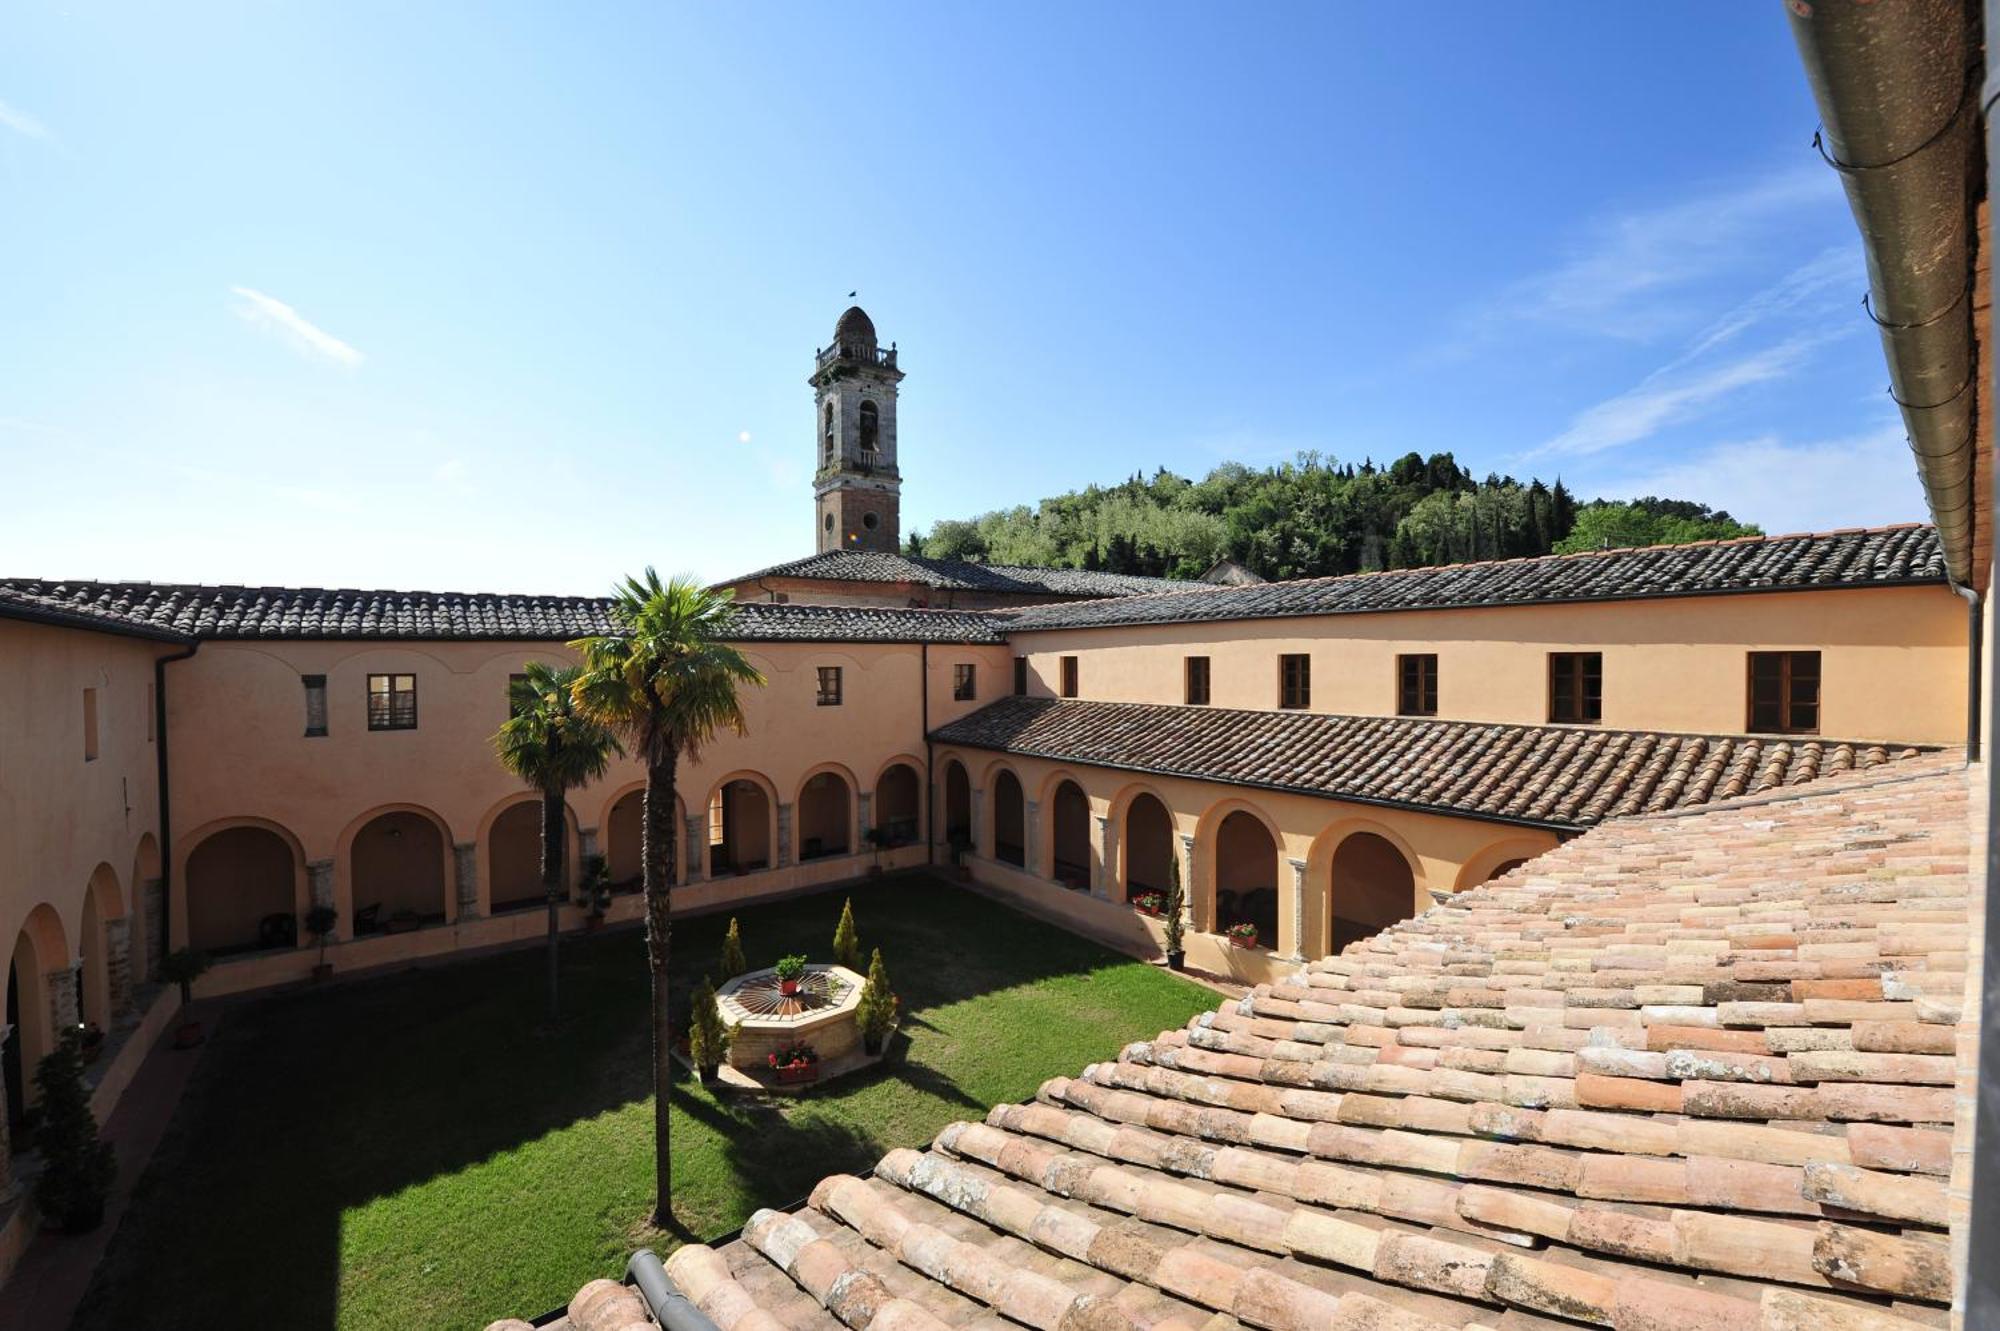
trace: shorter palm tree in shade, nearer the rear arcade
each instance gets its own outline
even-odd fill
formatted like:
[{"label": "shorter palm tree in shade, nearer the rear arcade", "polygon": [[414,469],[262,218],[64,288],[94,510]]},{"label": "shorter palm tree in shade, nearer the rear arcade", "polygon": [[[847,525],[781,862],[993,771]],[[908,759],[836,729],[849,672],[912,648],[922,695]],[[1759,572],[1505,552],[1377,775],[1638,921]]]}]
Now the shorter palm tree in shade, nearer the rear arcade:
[{"label": "shorter palm tree in shade, nearer the rear arcade", "polygon": [[508,681],[508,717],[494,735],[500,765],[542,791],[542,891],[548,893],[548,1019],[556,1019],[556,911],[562,907],[562,807],[622,753],[618,739],[576,705],[580,666],[528,662]]}]

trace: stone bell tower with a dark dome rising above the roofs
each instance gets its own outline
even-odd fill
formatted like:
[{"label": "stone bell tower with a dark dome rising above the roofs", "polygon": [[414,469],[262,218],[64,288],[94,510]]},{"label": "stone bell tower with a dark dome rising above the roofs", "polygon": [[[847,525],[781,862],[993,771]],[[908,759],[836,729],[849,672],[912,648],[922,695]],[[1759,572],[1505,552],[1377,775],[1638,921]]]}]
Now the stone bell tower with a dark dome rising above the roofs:
[{"label": "stone bell tower with a dark dome rising above the roofs", "polygon": [[834,344],[814,356],[814,550],[886,550],[902,544],[896,472],[896,344],[876,346],[874,322],[850,306]]}]

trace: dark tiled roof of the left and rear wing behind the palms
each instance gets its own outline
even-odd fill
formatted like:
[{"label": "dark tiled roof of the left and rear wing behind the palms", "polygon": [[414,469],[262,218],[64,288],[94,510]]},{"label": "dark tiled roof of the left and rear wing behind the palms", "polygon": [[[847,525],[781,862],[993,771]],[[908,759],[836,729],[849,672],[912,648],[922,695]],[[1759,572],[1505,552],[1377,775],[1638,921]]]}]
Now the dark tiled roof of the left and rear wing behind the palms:
[{"label": "dark tiled roof of the left and rear wing behind the palms", "polygon": [[[0,598],[182,638],[568,642],[614,630],[610,600],[150,582],[0,580]],[[736,608],[736,642],[1002,642],[990,616],[850,606]]]}]

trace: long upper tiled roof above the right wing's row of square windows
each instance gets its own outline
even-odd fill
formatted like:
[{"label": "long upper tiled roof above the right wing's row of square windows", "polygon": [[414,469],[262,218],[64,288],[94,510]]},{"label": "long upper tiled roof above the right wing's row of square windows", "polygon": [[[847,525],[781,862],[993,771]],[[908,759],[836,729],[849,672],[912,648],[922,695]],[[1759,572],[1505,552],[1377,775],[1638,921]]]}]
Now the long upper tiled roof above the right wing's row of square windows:
[{"label": "long upper tiled roof above the right wing's row of square windows", "polygon": [[1298,578],[1250,588],[1196,586],[1172,598],[1126,598],[1092,606],[1034,606],[1012,616],[1016,630],[1106,628],[1342,616],[1384,610],[1616,602],[1732,592],[1802,592],[1944,582],[1938,534],[1928,526],[1748,536],[1696,546],[1602,550],[1498,564],[1452,564],[1344,578]]}]

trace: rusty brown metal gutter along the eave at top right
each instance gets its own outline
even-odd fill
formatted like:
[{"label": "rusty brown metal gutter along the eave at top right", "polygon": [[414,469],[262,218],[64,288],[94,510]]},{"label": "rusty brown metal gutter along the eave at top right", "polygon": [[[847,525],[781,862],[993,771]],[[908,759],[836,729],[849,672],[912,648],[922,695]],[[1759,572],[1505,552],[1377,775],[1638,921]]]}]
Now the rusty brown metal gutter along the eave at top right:
[{"label": "rusty brown metal gutter along the eave at top right", "polygon": [[1788,0],[1786,14],[1820,108],[1814,142],[1862,234],[1866,310],[1946,572],[1974,586],[1974,12],[1964,0]]}]

